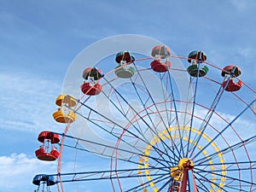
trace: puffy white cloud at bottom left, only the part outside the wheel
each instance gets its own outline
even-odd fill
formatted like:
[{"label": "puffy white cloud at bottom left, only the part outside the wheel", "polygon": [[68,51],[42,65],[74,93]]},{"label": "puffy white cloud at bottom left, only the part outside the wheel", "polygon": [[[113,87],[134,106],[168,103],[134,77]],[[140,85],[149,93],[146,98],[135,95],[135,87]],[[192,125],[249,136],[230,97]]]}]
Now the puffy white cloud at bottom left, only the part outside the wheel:
[{"label": "puffy white cloud at bottom left, only the part outside the wheel", "polygon": [[37,186],[32,184],[36,174],[55,173],[56,162],[40,161],[26,154],[10,154],[0,156],[0,186],[1,191],[33,191]]}]

